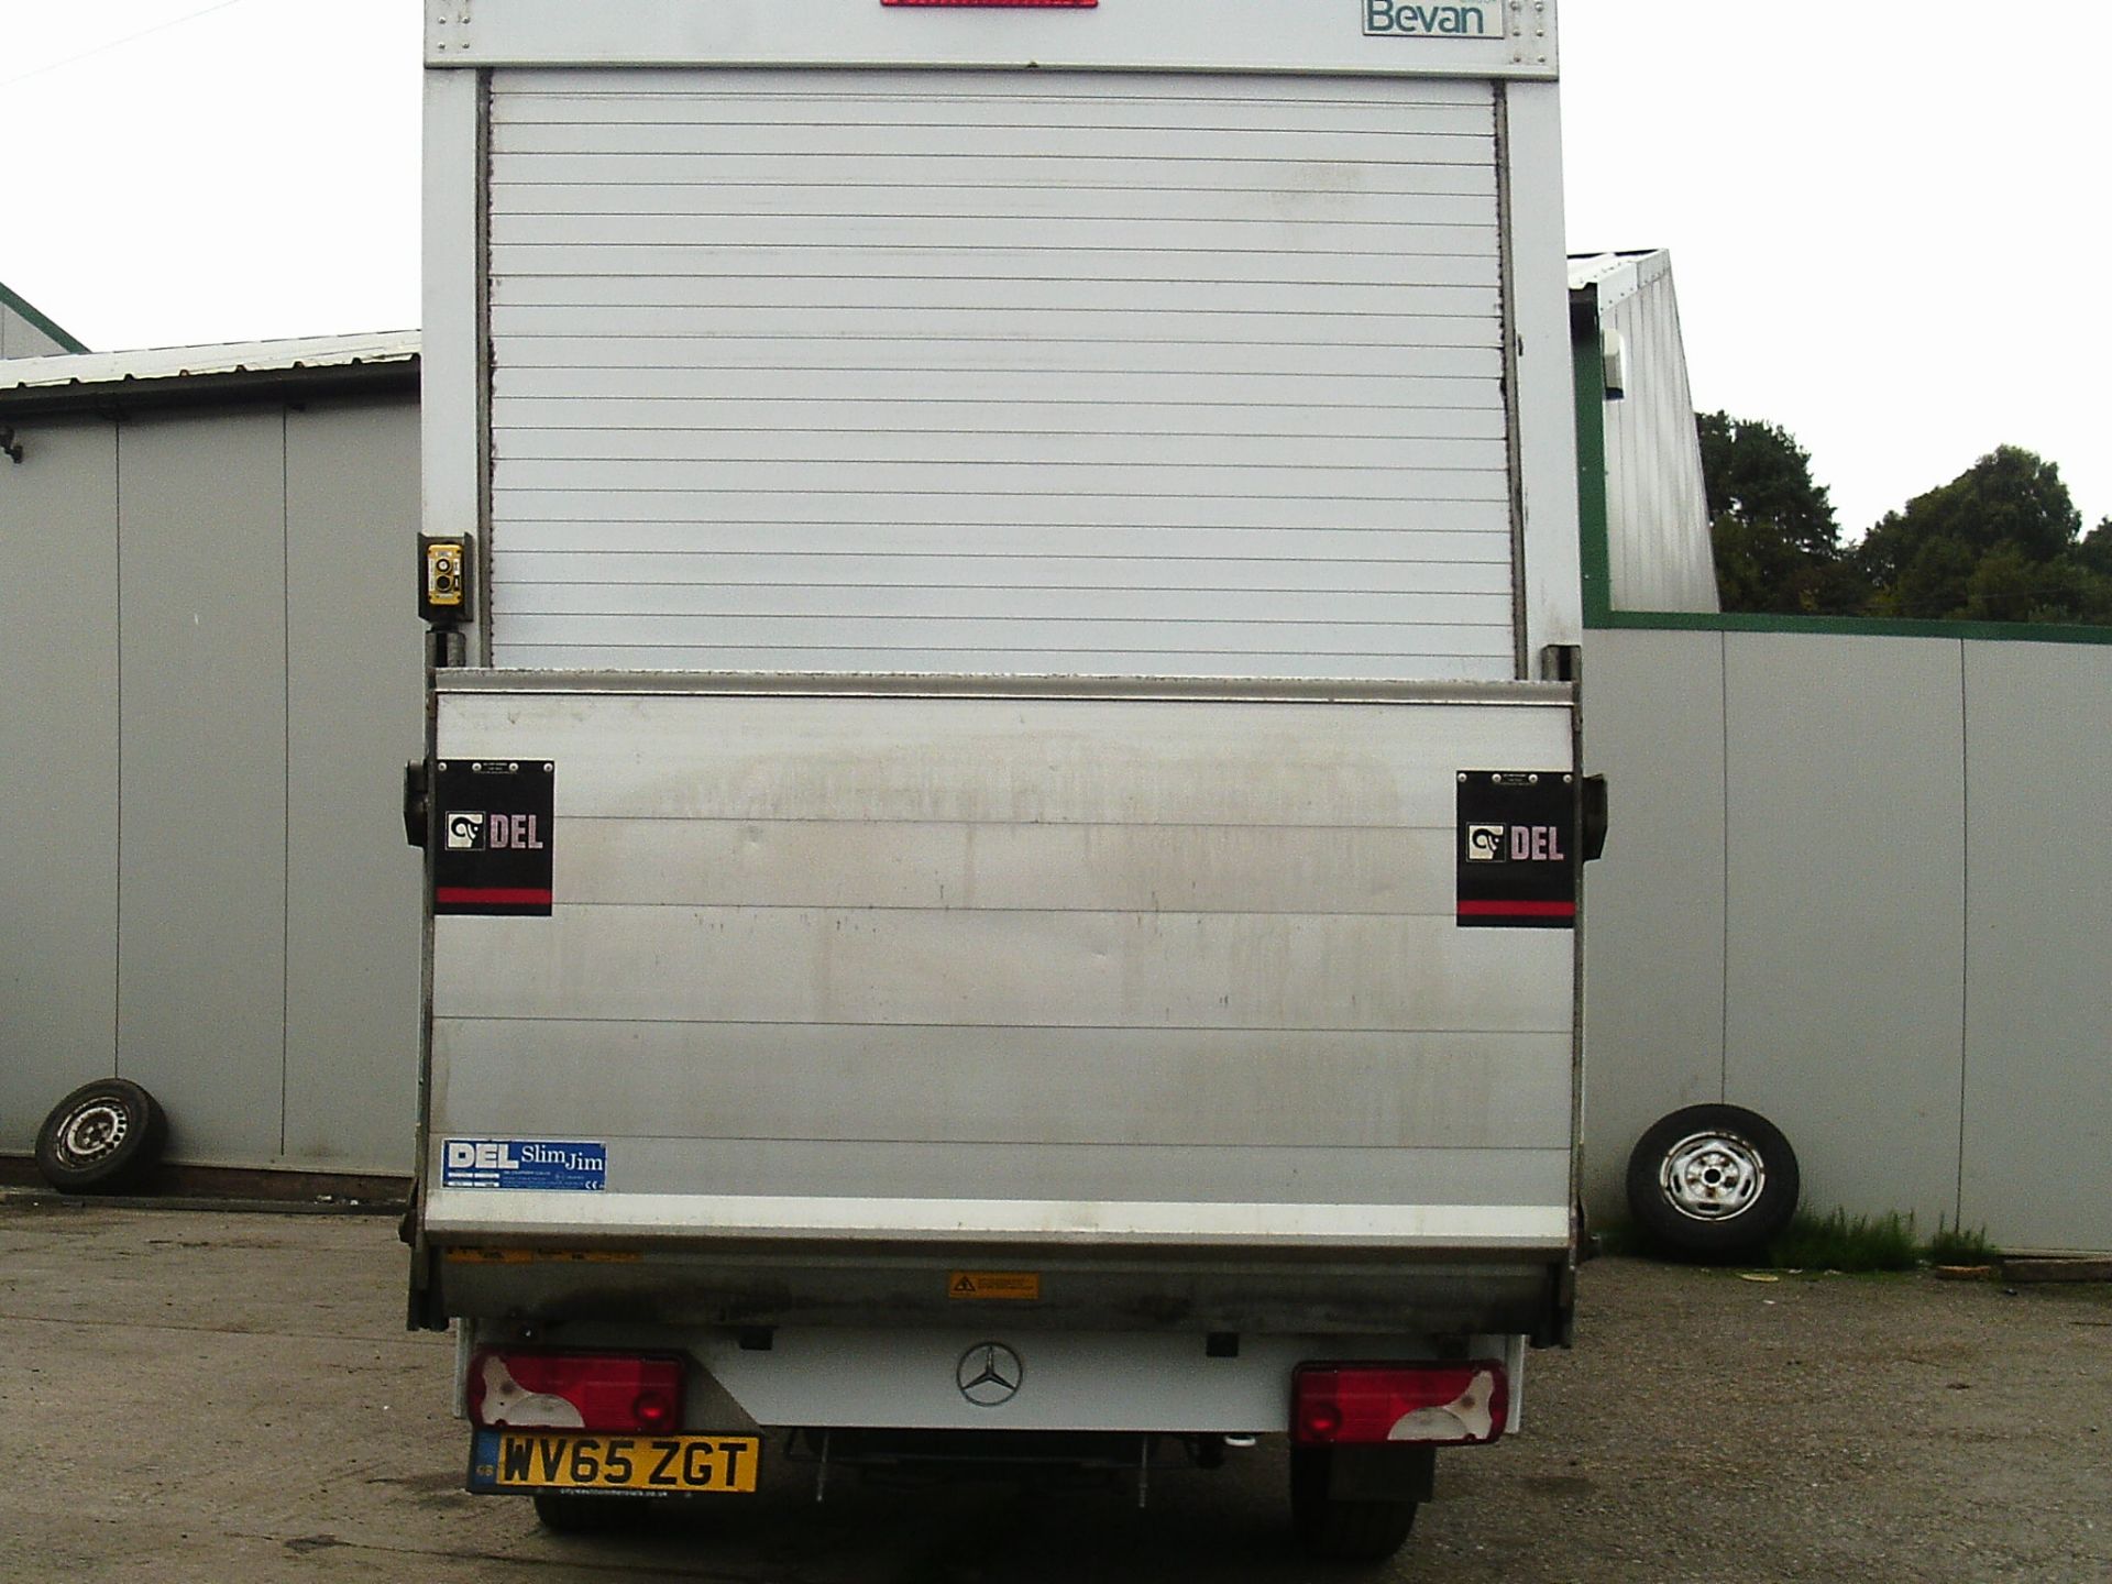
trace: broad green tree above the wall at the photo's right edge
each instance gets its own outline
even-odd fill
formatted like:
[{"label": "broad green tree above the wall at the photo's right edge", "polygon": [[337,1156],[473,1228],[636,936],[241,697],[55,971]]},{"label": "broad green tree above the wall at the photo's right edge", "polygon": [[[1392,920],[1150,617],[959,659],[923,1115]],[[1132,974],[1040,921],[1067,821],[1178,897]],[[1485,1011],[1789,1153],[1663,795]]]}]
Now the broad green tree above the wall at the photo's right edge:
[{"label": "broad green tree above the wall at the photo's right edge", "polygon": [[2112,524],[2078,541],[2061,469],[1998,446],[1949,484],[1888,511],[1859,562],[1871,615],[2112,621]]}]

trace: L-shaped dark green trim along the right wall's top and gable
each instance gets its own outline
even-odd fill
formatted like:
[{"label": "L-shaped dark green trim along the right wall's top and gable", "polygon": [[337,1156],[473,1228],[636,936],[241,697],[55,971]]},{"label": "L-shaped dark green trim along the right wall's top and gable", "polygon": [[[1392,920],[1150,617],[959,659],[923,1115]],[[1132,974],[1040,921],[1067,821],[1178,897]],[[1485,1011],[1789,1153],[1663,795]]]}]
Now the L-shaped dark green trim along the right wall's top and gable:
[{"label": "L-shaped dark green trim along the right wall's top and gable", "polygon": [[1778,617],[1736,610],[1616,610],[1605,498],[1605,359],[1597,329],[1571,334],[1578,386],[1578,560],[1584,627],[1601,631],[1766,631],[1835,638],[1977,638],[2004,644],[2112,644],[2112,627],[2036,621],[1905,621],[1899,617]]}]

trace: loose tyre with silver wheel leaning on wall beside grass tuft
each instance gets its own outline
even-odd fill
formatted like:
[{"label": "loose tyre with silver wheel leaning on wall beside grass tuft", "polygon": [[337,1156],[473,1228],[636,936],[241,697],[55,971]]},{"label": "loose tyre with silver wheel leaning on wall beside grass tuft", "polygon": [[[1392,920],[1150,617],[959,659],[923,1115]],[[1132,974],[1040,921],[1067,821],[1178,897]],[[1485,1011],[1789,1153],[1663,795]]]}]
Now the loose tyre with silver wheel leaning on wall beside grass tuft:
[{"label": "loose tyre with silver wheel leaning on wall beside grass tuft", "polygon": [[1757,1259],[1797,1208],[1797,1153],[1783,1130],[1736,1105],[1658,1119],[1628,1155],[1628,1210],[1683,1259]]}]

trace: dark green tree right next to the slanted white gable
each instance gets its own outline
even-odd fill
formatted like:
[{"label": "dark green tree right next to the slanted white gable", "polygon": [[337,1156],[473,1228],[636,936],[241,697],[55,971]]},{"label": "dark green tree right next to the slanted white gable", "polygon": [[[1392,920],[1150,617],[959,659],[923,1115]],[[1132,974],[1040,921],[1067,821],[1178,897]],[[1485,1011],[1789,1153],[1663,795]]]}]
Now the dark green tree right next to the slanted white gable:
[{"label": "dark green tree right next to the slanted white gable", "polygon": [[1833,501],[1789,431],[1728,412],[1696,416],[1709,539],[1726,610],[1852,615],[1869,598],[1840,543]]}]

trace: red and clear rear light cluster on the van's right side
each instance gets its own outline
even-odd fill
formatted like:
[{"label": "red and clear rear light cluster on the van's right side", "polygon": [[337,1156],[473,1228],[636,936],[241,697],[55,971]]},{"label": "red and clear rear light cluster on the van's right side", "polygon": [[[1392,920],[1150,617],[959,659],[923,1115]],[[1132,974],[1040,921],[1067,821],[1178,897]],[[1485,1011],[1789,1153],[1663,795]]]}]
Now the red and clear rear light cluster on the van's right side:
[{"label": "red and clear rear light cluster on the van's right side", "polygon": [[1462,1364],[1301,1364],[1290,1377],[1290,1440],[1478,1445],[1504,1434],[1510,1379],[1493,1358]]}]

